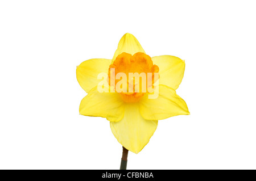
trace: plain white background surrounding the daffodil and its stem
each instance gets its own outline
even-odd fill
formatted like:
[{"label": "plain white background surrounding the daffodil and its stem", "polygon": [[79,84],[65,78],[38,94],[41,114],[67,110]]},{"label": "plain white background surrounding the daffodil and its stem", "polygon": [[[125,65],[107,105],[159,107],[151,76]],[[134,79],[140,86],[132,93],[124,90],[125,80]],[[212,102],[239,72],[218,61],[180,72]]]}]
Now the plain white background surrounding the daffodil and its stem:
[{"label": "plain white background surrounding the daffodil and its stem", "polygon": [[256,169],[255,1],[1,1],[0,169],[119,169],[109,121],[79,115],[76,66],[132,33],[186,62],[191,115],[159,121],[127,169]]}]

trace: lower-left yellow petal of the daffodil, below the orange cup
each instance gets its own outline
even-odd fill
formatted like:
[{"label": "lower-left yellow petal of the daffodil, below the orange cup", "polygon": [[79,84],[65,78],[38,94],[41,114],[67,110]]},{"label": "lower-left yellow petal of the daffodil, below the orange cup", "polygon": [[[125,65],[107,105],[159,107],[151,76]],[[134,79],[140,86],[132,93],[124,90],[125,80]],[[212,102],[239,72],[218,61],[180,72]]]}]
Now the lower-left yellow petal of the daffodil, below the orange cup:
[{"label": "lower-left yellow petal of the daffodil, below the orange cup", "polygon": [[100,93],[96,86],[82,99],[79,112],[84,116],[99,116],[106,117],[109,121],[120,121],[125,109],[118,93]]}]

